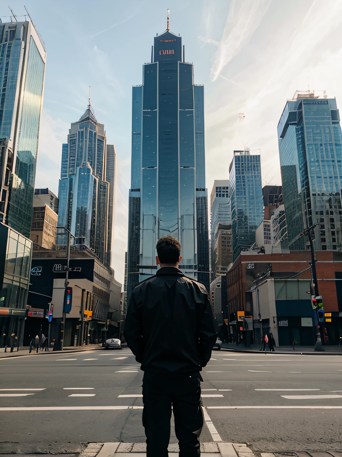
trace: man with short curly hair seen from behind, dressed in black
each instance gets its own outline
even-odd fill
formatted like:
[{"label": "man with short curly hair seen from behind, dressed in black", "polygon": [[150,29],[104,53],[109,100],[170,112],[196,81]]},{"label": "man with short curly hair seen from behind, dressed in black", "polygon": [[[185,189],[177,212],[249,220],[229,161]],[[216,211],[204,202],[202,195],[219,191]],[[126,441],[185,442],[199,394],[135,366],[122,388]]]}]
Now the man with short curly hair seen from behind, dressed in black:
[{"label": "man with short curly hair seen from behind, dressed in black", "polygon": [[167,457],[171,405],[179,456],[199,456],[203,426],[199,372],[217,334],[206,288],[179,270],[181,244],[172,236],[156,244],[155,276],[135,287],[124,337],[141,363],[147,457]]}]

